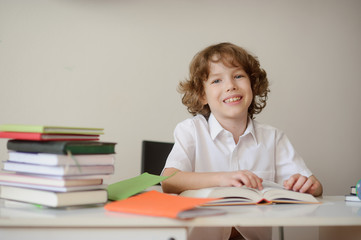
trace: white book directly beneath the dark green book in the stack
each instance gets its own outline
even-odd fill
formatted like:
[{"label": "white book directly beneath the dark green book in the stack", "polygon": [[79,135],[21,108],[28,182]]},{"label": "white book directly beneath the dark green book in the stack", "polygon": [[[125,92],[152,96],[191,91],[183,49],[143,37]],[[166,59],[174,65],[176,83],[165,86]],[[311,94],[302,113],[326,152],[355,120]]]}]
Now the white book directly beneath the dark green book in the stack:
[{"label": "white book directly beneath the dark green book in the stack", "polygon": [[115,154],[61,155],[10,151],[8,160],[40,165],[113,165]]}]

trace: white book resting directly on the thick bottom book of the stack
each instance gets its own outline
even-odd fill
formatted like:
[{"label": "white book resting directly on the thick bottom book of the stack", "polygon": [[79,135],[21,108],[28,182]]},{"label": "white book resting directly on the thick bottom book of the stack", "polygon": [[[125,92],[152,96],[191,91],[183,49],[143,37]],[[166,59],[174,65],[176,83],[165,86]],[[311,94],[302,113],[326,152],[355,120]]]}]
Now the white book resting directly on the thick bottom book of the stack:
[{"label": "white book resting directly on the thick bottom book of the stack", "polygon": [[101,185],[103,179],[99,178],[84,178],[87,176],[69,177],[62,176],[41,176],[21,173],[0,173],[0,182],[11,183],[26,183],[34,185],[44,185],[50,187],[76,187],[76,186],[89,186]]}]

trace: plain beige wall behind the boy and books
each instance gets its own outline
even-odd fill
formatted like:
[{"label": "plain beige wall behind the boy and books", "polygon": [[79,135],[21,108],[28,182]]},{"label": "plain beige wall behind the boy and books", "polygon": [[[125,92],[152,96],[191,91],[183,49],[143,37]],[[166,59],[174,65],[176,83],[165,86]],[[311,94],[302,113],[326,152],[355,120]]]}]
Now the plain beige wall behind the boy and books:
[{"label": "plain beige wall behind the boy and books", "polygon": [[[361,1],[0,0],[0,124],[104,127],[116,174],[143,139],[173,141],[193,55],[230,41],[271,81],[257,119],[283,129],[324,184],[361,178]],[[6,140],[0,140],[6,159]]]}]

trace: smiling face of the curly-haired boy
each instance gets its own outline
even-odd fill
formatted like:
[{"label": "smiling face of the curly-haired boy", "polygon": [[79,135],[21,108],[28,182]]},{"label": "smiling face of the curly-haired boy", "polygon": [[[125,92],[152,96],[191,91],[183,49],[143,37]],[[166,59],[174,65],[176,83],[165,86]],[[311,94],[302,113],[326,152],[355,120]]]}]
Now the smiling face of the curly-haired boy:
[{"label": "smiling face of the curly-haired boy", "polygon": [[211,61],[209,75],[203,86],[202,103],[209,105],[220,123],[229,120],[247,121],[253,93],[250,79],[241,66]]}]

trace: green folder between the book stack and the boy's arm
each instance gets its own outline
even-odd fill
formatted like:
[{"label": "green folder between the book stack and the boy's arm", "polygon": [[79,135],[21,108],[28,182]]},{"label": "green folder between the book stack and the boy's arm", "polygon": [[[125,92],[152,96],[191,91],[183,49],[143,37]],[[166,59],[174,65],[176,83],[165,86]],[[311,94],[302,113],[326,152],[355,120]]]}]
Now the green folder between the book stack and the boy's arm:
[{"label": "green folder between the book stack and the boy's arm", "polygon": [[161,181],[166,180],[171,176],[158,176],[143,173],[137,177],[110,184],[107,188],[108,199],[112,201],[126,199],[160,183]]}]

